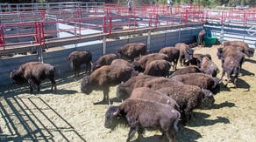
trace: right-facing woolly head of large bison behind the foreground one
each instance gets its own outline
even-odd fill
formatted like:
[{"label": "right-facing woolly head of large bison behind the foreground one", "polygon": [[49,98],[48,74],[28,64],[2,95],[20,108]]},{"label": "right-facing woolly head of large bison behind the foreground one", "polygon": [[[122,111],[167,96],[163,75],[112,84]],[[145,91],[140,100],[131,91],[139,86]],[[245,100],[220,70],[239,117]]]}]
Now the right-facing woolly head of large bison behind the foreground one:
[{"label": "right-facing woolly head of large bison behind the foreground one", "polygon": [[211,91],[202,89],[202,92],[203,92],[203,98],[202,98],[201,107],[209,108],[210,106],[212,106],[214,104],[215,99],[213,98]]}]

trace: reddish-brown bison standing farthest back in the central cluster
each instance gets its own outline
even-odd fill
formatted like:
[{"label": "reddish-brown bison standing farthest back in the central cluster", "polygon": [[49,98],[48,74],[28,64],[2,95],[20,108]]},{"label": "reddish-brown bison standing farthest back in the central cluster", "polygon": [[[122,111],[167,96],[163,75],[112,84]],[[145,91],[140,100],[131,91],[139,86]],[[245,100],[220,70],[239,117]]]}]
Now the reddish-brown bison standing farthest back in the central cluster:
[{"label": "reddish-brown bison standing farthest back in the central cluster", "polygon": [[181,66],[183,64],[186,64],[185,63],[186,60],[188,60],[188,62],[189,62],[193,58],[194,51],[188,47],[188,44],[178,43],[178,44],[175,44],[175,48],[180,50]]}]

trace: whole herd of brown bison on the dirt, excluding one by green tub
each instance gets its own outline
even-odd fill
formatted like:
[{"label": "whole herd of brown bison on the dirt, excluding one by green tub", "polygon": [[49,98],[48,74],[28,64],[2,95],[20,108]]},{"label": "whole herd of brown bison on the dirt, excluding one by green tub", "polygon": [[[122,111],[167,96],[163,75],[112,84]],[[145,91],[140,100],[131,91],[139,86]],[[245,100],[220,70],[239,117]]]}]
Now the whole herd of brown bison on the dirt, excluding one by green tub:
[{"label": "whole herd of brown bison on the dirt, excluding one by green tub", "polygon": [[[117,49],[117,54],[106,54],[92,63],[90,51],[73,51],[68,56],[70,66],[79,76],[80,67],[86,65],[86,73],[81,81],[81,91],[103,91],[103,101],[109,100],[110,86],[117,85],[120,105],[110,105],[105,112],[106,128],[117,125],[130,127],[127,141],[138,132],[138,139],[145,129],[160,130],[160,139],[174,139],[178,123],[186,125],[196,108],[210,108],[214,104],[213,94],[219,84],[232,82],[239,87],[238,74],[245,57],[252,57],[253,48],[242,41],[226,41],[217,49],[217,57],[222,63],[219,69],[209,54],[194,54],[188,44],[178,43],[174,47],[162,48],[156,53],[147,53],[142,43],[125,44]],[[181,69],[177,70],[180,61]],[[171,69],[171,66],[173,68]],[[171,74],[170,70],[174,72]],[[177,70],[177,71],[176,71]],[[56,91],[55,68],[51,64],[29,62],[11,71],[15,84],[27,82],[30,91],[48,78],[52,91]],[[225,86],[226,86],[225,85]]]}]

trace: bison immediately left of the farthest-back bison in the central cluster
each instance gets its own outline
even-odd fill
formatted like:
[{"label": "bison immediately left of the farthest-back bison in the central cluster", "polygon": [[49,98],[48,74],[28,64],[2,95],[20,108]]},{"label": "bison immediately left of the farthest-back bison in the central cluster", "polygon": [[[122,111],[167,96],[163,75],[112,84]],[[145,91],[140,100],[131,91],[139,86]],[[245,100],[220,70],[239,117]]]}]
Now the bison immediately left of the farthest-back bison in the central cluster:
[{"label": "bison immediately left of the farthest-back bison in the central cluster", "polygon": [[174,63],[173,70],[176,71],[178,60],[180,57],[180,50],[176,49],[175,47],[165,47],[165,48],[162,48],[159,51],[159,53],[166,54],[169,57],[168,61],[170,63]]}]

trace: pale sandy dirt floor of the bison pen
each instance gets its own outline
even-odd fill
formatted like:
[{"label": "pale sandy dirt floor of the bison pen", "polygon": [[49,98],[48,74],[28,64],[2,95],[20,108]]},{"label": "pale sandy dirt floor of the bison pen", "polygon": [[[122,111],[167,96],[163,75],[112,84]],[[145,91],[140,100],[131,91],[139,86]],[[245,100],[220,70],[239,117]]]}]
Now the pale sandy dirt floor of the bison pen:
[{"label": "pale sandy dirt floor of the bison pen", "polygon": [[[197,47],[196,52],[210,53],[220,68],[217,46]],[[228,88],[221,85],[215,105],[209,110],[195,110],[188,125],[180,125],[175,140],[255,141],[255,63],[256,56],[247,58],[242,75],[238,77],[238,89],[232,84]],[[129,128],[118,127],[112,132],[104,128],[108,105],[93,104],[103,99],[103,92],[81,93],[81,78],[75,78],[71,72],[58,78],[56,94],[50,93],[48,82],[35,94],[29,94],[26,85],[1,86],[0,141],[125,141]],[[116,86],[111,87],[110,98],[113,98],[113,105],[120,103],[116,98]],[[160,132],[146,132],[142,141],[158,141],[159,136]]]}]

